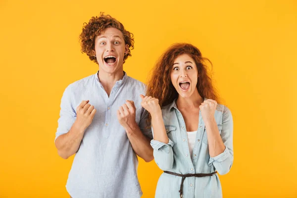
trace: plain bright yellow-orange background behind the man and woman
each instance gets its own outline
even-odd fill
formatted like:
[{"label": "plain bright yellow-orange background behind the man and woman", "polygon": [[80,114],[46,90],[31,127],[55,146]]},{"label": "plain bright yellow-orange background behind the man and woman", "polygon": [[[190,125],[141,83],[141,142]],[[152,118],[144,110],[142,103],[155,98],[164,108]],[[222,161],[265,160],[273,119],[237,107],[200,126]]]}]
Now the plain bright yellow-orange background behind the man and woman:
[{"label": "plain bright yellow-orange background behind the man and woman", "polygon": [[[53,142],[59,104],[67,85],[98,70],[78,37],[100,11],[135,35],[124,70],[142,82],[175,42],[212,61],[234,118],[225,198],[297,198],[296,0],[0,0],[0,198],[68,198],[73,156],[60,158]],[[161,171],[140,159],[138,172],[153,198]]]}]

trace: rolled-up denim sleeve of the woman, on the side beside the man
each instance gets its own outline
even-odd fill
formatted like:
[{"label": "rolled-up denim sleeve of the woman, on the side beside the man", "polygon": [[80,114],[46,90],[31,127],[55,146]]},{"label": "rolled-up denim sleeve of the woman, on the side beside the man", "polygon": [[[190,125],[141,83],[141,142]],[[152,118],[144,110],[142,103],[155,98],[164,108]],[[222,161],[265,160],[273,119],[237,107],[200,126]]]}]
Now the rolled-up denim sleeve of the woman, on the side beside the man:
[{"label": "rolled-up denim sleeve of the woman, on the side beside the man", "polygon": [[[153,129],[151,127],[153,134]],[[169,139],[169,138],[168,138]],[[173,167],[173,150],[174,143],[169,139],[168,144],[151,140],[150,146],[153,148],[153,156],[156,164],[161,170],[170,170]]]}]

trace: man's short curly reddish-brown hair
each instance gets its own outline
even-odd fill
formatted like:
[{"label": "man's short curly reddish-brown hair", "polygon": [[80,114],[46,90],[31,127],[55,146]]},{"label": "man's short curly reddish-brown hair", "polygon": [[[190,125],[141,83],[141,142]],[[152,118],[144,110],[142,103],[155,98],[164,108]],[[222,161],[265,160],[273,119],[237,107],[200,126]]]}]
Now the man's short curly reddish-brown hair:
[{"label": "man's short curly reddish-brown hair", "polygon": [[124,55],[124,62],[131,56],[131,50],[134,49],[134,38],[133,34],[127,31],[123,24],[120,23],[115,18],[110,15],[104,15],[104,12],[100,12],[99,16],[92,17],[89,23],[84,23],[83,31],[80,34],[80,43],[82,53],[86,53],[90,60],[93,60],[98,64],[96,56],[94,56],[95,51],[95,38],[100,35],[106,28],[116,28],[123,33],[125,45],[128,44],[128,53]]}]

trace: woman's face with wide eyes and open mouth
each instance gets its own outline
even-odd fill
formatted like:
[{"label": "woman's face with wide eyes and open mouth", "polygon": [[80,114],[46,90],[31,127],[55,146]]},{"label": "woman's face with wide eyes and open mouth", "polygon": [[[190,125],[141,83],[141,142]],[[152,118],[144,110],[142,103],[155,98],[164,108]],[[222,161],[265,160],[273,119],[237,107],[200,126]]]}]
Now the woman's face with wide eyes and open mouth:
[{"label": "woman's face with wide eyes and open mouth", "polygon": [[170,77],[174,88],[181,97],[192,96],[197,89],[198,81],[198,70],[194,59],[188,54],[176,57]]}]

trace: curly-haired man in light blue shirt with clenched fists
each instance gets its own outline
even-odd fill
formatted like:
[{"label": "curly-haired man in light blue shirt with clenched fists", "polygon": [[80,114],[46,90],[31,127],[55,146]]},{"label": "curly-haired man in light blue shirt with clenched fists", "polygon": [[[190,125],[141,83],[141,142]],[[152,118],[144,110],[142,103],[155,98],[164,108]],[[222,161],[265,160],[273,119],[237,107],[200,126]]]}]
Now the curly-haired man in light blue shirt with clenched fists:
[{"label": "curly-haired man in light blue shirt with clenched fists", "polygon": [[100,13],[80,40],[99,72],[70,84],[61,99],[55,146],[64,159],[76,153],[66,189],[72,198],[140,198],[136,154],[148,162],[153,151],[145,85],[123,71],[133,34]]}]

